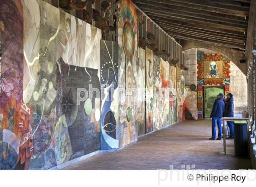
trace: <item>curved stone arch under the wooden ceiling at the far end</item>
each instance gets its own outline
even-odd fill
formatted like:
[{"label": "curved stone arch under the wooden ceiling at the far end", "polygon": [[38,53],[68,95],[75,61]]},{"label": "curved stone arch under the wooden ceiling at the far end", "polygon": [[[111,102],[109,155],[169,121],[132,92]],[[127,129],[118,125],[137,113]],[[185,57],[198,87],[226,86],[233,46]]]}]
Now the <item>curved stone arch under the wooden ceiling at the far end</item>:
[{"label": "curved stone arch under the wooden ceiling at the far end", "polygon": [[183,41],[182,42],[183,51],[193,49],[193,48],[205,48],[213,52],[222,54],[231,60],[245,75],[247,74],[247,64],[240,63],[240,59],[244,57],[244,53],[241,51],[236,51],[228,47],[216,46],[209,43],[194,42],[194,41]]}]

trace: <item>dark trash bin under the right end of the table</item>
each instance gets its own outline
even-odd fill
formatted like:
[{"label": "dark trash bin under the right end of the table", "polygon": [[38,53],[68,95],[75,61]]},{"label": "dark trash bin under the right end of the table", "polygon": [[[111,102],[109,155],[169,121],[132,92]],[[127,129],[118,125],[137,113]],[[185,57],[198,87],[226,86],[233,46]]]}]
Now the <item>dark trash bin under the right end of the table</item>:
[{"label": "dark trash bin under the right end of the table", "polygon": [[248,132],[246,122],[234,123],[235,158],[248,158]]}]

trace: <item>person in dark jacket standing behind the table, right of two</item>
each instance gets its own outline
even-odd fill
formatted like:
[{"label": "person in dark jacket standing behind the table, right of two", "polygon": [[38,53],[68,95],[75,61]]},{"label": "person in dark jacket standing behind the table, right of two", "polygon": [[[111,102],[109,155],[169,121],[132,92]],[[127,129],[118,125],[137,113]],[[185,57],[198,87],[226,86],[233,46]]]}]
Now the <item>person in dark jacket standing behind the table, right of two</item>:
[{"label": "person in dark jacket standing behind the table, right of two", "polygon": [[[229,92],[227,94],[227,101],[226,101],[224,116],[234,118],[234,110],[235,110],[235,107],[234,107],[233,94]],[[234,122],[228,121],[227,125],[229,126],[229,130],[230,130],[230,136],[227,139],[233,140],[234,139]]]}]

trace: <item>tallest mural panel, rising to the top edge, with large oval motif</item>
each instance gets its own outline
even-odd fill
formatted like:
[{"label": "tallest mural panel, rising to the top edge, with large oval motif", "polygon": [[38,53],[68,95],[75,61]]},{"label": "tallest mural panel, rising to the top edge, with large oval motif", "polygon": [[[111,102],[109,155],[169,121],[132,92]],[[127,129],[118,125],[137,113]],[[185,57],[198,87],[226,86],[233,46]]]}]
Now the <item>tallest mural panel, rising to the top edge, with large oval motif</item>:
[{"label": "tallest mural panel, rising to the top edge, with large oval motif", "polygon": [[[118,62],[119,88],[137,88],[138,22],[137,12],[131,0],[119,0]],[[128,79],[128,80],[127,80]],[[137,101],[130,90],[122,92],[119,104],[119,147],[137,141]],[[136,97],[136,96],[135,96]],[[119,97],[120,98],[120,97]]]}]

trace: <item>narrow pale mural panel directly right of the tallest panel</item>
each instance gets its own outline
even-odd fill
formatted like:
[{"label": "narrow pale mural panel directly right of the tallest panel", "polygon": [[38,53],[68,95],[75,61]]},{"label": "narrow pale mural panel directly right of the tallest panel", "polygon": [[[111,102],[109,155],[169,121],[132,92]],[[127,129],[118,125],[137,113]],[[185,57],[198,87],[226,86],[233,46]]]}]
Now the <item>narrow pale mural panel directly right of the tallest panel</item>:
[{"label": "narrow pale mural panel directly right of the tallest panel", "polygon": [[138,94],[138,103],[137,103],[137,130],[138,136],[144,135],[146,133],[146,102],[145,96],[142,94],[144,92],[144,88],[146,86],[145,81],[145,50],[143,48],[139,48],[139,66],[137,66],[137,71],[135,75],[135,79],[137,84],[137,88],[139,90]]}]

